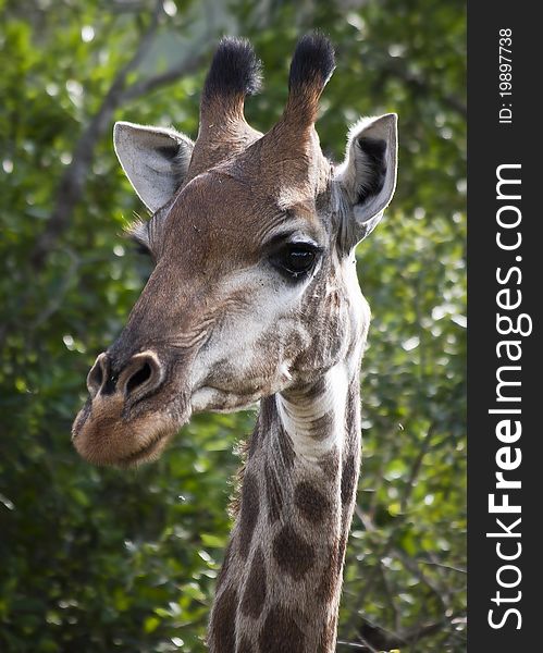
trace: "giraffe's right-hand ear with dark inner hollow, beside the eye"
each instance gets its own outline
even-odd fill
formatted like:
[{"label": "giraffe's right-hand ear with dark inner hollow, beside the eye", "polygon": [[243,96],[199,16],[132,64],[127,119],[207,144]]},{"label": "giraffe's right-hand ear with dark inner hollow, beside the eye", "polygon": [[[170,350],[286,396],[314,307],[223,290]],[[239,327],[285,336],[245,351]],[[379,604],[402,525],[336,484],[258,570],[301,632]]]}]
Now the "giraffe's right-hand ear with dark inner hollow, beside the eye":
[{"label": "giraffe's right-hand ear with dark inner hollow, beside the eye", "polygon": [[340,184],[342,241],[348,248],[366,238],[378,225],[394,195],[397,169],[397,115],[366,118],[350,132]]}]

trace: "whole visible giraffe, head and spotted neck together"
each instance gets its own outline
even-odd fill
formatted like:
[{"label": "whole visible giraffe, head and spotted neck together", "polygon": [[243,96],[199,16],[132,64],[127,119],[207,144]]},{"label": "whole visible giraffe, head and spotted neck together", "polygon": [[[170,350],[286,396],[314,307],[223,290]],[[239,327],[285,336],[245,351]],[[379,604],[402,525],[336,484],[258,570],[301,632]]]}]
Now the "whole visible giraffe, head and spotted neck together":
[{"label": "whole visible giraffe, head and spotted neck together", "polygon": [[72,438],[90,463],[137,466],[192,415],[260,402],[211,609],[212,653],[335,650],[370,320],[354,250],[394,193],[397,118],[360,120],[345,161],[330,162],[314,123],[334,66],[324,36],[303,37],[284,112],[261,134],[244,118],[259,62],[248,41],[224,38],[195,143],[171,128],[114,127],[120,162],[152,213],[132,236],[155,268],[89,371]]}]

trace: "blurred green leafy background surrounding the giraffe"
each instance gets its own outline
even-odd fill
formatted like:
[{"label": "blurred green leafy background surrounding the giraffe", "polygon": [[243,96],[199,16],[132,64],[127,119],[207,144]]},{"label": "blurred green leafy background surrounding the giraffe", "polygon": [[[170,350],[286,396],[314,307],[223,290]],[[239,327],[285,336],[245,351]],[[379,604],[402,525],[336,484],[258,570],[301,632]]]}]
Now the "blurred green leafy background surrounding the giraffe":
[{"label": "blurred green leafy background surrounding the giraffe", "polygon": [[325,153],[396,111],[396,196],[359,247],[373,322],[363,468],[337,651],[466,649],[466,22],[460,0],[0,0],[0,651],[203,652],[237,443],[256,411],[203,415],[162,459],[97,469],[70,443],[85,377],[149,262],[123,236],[145,209],[115,120],[193,138],[222,34],[249,37],[267,131],[296,39],[337,70]]}]

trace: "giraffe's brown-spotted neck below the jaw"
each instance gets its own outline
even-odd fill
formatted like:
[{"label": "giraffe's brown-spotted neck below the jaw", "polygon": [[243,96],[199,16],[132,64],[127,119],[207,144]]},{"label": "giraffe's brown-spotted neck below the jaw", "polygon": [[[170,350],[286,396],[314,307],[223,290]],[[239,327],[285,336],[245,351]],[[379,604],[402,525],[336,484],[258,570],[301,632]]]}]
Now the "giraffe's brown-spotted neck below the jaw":
[{"label": "giraffe's brown-spotted neck below the jaw", "polygon": [[335,651],[360,465],[358,369],[342,362],[262,399],[211,613],[212,653]]}]

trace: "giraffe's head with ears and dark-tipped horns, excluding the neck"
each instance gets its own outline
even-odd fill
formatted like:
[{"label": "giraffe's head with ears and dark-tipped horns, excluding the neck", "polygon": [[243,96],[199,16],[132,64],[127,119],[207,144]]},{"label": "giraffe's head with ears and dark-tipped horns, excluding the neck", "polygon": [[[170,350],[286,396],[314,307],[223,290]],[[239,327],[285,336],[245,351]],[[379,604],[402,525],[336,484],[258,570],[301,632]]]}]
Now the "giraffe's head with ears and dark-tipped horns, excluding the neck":
[{"label": "giraffe's head with ears and dark-tipped horns, excluding the neck", "polygon": [[155,269],[88,374],[73,440],[89,461],[153,459],[193,412],[311,382],[367,329],[354,247],[394,193],[396,115],[357,123],[333,165],[314,130],[333,69],[324,37],[301,38],[283,115],[262,135],[243,110],[258,61],[248,42],[223,39],[196,143],[115,124],[118,157],[152,212],[132,234]]}]

